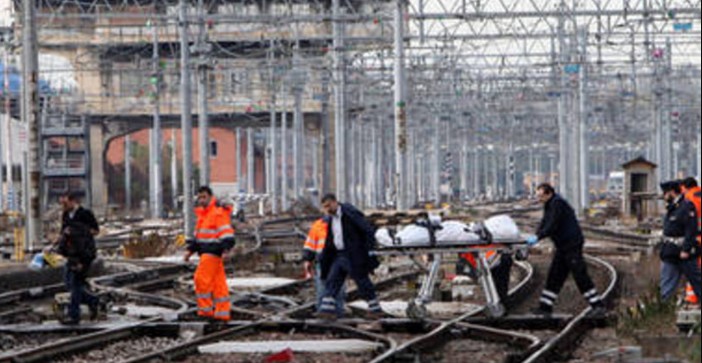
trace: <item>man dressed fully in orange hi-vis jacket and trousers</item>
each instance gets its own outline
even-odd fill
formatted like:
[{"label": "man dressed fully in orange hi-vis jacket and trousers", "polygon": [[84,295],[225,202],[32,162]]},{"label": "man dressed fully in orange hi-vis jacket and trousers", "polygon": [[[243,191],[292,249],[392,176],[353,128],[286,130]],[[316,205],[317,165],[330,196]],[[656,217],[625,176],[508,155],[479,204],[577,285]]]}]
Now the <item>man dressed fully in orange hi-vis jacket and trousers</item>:
[{"label": "man dressed fully in orange hi-vis jacket and trousers", "polygon": [[197,225],[195,239],[188,241],[185,261],[193,254],[200,255],[195,271],[195,293],[198,315],[220,321],[231,319],[231,300],[224,260],[234,248],[234,229],[226,212],[217,205],[212,189],[198,190]]}]

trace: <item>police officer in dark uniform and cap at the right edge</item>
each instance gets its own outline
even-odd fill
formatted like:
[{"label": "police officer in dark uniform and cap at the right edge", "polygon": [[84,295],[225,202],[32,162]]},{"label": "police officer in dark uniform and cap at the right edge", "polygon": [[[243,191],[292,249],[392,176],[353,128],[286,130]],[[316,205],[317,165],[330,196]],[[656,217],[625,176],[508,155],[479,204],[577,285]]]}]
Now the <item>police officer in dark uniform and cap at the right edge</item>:
[{"label": "police officer in dark uniform and cap at the right edge", "polygon": [[661,184],[663,199],[668,203],[668,212],[663,220],[663,244],[660,258],[661,296],[670,299],[682,275],[687,277],[695,295],[699,298],[702,290],[702,275],[697,265],[700,248],[697,245],[697,212],[695,206],[685,199],[678,181]]}]

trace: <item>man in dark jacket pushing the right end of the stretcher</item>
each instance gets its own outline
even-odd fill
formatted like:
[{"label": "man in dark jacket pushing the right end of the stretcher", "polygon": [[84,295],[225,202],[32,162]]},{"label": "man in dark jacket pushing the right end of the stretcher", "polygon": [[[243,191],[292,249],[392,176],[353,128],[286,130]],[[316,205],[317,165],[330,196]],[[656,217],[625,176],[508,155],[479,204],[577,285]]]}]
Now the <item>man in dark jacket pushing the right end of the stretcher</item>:
[{"label": "man in dark jacket pushing the right end of the stretcher", "polygon": [[544,204],[544,217],[539,225],[536,236],[528,242],[535,245],[540,240],[551,238],[556,245],[556,254],[551,263],[551,269],[546,280],[546,289],[540,299],[538,315],[550,315],[558,299],[563,285],[569,274],[573,274],[578,289],[593,308],[593,315],[605,313],[604,303],[595,284],[587,272],[583,258],[585,237],[578,223],[573,208],[565,201],[550,184],[542,184],[537,188],[539,201]]}]

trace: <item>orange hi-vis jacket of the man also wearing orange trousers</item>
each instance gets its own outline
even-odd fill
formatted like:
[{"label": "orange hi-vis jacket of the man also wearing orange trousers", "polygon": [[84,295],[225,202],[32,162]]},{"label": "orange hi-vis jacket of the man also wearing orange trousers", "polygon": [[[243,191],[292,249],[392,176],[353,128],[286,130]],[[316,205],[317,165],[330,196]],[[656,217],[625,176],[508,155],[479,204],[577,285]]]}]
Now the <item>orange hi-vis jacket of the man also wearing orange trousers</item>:
[{"label": "orange hi-vis jacket of the man also wearing orange trousers", "polygon": [[234,247],[231,220],[226,211],[217,206],[215,198],[212,198],[207,207],[195,208],[195,214],[195,241],[188,245],[189,251],[221,256],[224,251]]}]

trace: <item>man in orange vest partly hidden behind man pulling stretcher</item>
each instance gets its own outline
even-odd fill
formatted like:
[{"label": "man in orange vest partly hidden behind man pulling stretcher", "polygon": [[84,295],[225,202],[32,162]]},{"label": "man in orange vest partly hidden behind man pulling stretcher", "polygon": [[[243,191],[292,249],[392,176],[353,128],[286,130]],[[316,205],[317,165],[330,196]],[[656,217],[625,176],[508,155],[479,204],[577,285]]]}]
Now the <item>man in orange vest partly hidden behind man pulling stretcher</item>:
[{"label": "man in orange vest partly hidden behind man pulling stretcher", "polygon": [[[324,246],[327,243],[327,233],[329,231],[329,223],[324,219],[319,219],[310,228],[307,235],[305,246],[302,250],[302,260],[305,264],[305,275],[307,278],[314,277],[315,289],[317,290],[317,309],[322,306],[324,298],[325,281],[322,280],[322,271],[317,261],[319,255],[324,251]],[[346,301],[346,285],[339,290],[339,295],[336,296],[336,314],[339,318],[344,315],[344,304]]]}]

